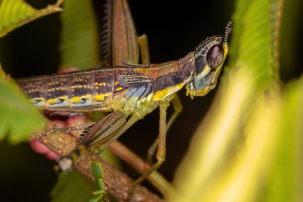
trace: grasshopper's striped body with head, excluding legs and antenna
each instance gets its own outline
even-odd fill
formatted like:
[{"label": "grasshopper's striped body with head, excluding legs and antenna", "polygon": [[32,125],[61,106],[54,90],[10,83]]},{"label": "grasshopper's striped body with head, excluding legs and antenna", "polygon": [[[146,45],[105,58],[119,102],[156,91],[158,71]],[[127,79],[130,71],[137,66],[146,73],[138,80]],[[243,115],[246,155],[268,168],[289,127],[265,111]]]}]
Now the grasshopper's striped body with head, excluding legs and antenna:
[{"label": "grasshopper's striped body with head, excluding legs and antenna", "polygon": [[126,116],[136,111],[142,118],[158,107],[159,101],[169,103],[184,85],[191,98],[208,93],[216,85],[226,55],[227,43],[223,36],[215,35],[177,61],[98,67],[16,81],[30,95],[30,102],[41,109],[121,110]]}]

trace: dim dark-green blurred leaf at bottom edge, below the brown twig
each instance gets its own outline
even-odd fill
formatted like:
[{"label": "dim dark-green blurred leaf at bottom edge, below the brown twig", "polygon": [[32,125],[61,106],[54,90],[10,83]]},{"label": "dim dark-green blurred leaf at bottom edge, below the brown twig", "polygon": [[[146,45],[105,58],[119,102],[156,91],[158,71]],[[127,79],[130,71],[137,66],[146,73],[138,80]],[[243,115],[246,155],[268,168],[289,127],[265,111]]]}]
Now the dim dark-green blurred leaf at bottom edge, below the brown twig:
[{"label": "dim dark-green blurred leaf at bottom edge, below the brown twig", "polygon": [[92,183],[79,172],[60,173],[59,179],[51,191],[51,202],[87,202],[95,189]]}]

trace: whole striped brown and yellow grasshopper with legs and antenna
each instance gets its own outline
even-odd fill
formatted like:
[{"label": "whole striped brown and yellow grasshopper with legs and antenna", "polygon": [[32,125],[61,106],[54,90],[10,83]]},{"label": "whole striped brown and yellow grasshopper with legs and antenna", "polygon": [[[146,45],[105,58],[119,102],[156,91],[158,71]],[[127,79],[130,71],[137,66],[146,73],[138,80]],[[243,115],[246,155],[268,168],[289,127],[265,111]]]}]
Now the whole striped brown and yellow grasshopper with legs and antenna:
[{"label": "whole striped brown and yellow grasshopper with legs and antenna", "polygon": [[[176,93],[185,87],[186,95],[193,99],[215,88],[227,56],[230,31],[231,22],[228,22],[224,36],[215,35],[205,39],[195,51],[177,61],[159,64],[120,63],[116,66],[21,78],[16,82],[29,94],[30,102],[40,109],[113,111],[84,130],[83,138],[80,138],[74,151],[59,157],[59,166],[63,171],[72,170],[78,157],[92,146],[96,147],[95,153],[102,152],[136,121],[159,107],[157,162],[135,182],[136,185],[165,160],[166,111],[170,102],[179,105]],[[172,116],[171,120],[177,115]]]}]

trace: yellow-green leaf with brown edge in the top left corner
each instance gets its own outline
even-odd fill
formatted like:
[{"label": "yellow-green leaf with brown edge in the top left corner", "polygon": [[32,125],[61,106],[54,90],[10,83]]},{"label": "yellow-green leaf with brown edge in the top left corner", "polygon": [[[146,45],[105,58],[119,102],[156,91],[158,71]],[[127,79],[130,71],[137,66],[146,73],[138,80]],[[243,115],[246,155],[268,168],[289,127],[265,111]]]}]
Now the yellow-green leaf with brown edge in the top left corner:
[{"label": "yellow-green leaf with brown edge in the top left corner", "polygon": [[61,2],[36,10],[24,0],[0,1],[0,37],[39,17],[62,11]]}]

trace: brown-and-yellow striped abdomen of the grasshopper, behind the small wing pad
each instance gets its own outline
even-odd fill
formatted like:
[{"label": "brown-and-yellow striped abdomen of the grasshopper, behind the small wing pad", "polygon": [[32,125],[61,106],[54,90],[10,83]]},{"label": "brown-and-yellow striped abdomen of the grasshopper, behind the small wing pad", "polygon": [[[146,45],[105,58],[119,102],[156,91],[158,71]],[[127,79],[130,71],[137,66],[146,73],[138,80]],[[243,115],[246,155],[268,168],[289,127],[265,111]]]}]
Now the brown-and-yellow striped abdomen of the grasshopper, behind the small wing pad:
[{"label": "brown-and-yellow striped abdomen of the grasshopper, behind the small wing pad", "polygon": [[21,89],[30,95],[37,107],[48,110],[89,111],[112,110],[114,93],[124,93],[116,81],[128,67],[96,69],[17,79]]}]

